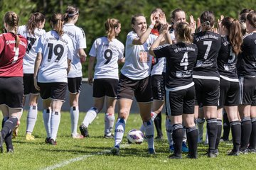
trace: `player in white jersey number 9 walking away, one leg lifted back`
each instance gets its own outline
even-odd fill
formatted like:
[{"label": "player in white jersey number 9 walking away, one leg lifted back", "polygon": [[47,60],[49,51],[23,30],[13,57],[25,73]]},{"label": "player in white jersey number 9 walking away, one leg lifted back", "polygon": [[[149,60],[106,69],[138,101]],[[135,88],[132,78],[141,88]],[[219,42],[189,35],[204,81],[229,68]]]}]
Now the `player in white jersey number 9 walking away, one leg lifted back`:
[{"label": "player in white jersey number 9 walking away, one leg lifted back", "polygon": [[93,81],[93,100],[94,105],[87,111],[82,124],[80,125],[81,134],[88,137],[88,126],[95,120],[105,103],[105,138],[113,138],[112,128],[114,126],[114,108],[117,101],[118,86],[118,63],[124,57],[124,45],[117,40],[121,32],[121,23],[116,18],[108,18],[105,22],[107,36],[97,38],[93,42],[90,50],[88,66],[88,83],[92,85],[92,69],[95,65]]}]

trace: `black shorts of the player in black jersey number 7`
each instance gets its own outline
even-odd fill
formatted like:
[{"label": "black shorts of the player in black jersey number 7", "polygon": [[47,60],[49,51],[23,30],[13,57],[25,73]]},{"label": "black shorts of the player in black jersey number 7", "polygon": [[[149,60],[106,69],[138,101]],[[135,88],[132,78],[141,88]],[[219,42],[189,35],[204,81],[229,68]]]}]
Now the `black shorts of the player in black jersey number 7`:
[{"label": "black shorts of the player in black jersey number 7", "polygon": [[214,79],[193,79],[196,89],[195,104],[203,106],[218,106],[220,96],[220,81]]}]

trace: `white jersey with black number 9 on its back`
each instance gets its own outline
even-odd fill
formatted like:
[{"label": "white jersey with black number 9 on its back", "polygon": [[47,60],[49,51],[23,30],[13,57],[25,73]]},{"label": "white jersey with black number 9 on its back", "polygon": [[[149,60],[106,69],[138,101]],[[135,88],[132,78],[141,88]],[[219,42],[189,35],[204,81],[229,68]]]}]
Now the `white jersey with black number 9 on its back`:
[{"label": "white jersey with black number 9 on its back", "polygon": [[97,38],[89,53],[96,57],[94,79],[119,79],[117,61],[124,57],[124,45],[116,38],[110,42],[107,37]]}]

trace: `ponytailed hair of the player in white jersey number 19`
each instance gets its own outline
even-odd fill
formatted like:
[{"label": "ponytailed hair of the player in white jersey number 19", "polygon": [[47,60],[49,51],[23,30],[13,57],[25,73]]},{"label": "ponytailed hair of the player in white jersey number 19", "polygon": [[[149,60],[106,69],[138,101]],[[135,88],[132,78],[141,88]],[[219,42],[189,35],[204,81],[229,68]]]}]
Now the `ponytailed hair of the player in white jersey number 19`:
[{"label": "ponytailed hair of the player in white jersey number 19", "polygon": [[55,28],[55,31],[60,35],[63,35],[63,15],[61,13],[53,13],[53,16],[50,17],[50,25]]}]

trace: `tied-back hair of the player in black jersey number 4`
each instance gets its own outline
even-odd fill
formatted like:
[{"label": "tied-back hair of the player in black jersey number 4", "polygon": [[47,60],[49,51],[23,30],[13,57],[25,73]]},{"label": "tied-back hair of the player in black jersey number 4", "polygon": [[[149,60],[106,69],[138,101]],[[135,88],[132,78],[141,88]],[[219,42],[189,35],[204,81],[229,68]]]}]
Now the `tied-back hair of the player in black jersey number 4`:
[{"label": "tied-back hair of the player in black jersey number 4", "polygon": [[191,36],[192,28],[189,26],[188,23],[185,23],[185,22],[177,23],[175,32],[179,38],[183,38],[188,42],[193,42],[193,38]]}]

